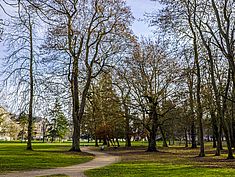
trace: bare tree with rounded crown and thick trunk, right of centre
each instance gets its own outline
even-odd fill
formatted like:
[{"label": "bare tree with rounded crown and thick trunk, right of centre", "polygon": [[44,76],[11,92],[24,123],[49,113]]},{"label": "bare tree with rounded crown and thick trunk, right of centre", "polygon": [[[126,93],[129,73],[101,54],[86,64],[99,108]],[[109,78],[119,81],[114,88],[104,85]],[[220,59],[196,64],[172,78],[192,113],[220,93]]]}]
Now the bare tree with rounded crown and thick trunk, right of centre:
[{"label": "bare tree with rounded crown and thick trunk, right of centre", "polygon": [[[163,45],[159,41],[143,40],[133,52],[132,60],[128,61],[130,67],[130,83],[133,87],[133,97],[138,107],[141,107],[143,124],[148,131],[148,149],[156,149],[156,134],[160,118],[172,108],[162,110],[163,102],[173,97],[177,79],[177,65],[173,59],[168,58]],[[173,70],[174,68],[174,70]],[[145,117],[145,113],[148,117]]]}]

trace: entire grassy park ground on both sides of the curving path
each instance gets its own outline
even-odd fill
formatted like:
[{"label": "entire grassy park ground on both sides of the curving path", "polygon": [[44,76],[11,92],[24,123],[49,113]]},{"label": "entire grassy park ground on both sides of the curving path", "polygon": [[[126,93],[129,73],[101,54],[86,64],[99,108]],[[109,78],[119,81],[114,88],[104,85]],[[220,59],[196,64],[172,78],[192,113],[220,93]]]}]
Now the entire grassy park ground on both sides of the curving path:
[{"label": "entire grassy park ground on both sides of the curving path", "polygon": [[[211,144],[206,144],[206,157],[197,157],[199,149],[172,146],[148,153],[146,142],[133,142],[135,147],[106,148],[106,152],[121,156],[119,163],[86,171],[89,177],[214,177],[235,176],[235,160],[226,160],[226,151],[214,156]],[[82,145],[88,145],[83,142]],[[94,145],[94,143],[89,143]],[[124,143],[121,143],[123,146]],[[178,145],[178,144],[177,144]],[[46,169],[87,162],[86,153],[68,152],[70,143],[33,143],[34,151],[26,151],[25,143],[0,143],[0,174],[9,171]],[[158,142],[158,147],[161,142]],[[46,177],[67,177],[63,174]]]}]

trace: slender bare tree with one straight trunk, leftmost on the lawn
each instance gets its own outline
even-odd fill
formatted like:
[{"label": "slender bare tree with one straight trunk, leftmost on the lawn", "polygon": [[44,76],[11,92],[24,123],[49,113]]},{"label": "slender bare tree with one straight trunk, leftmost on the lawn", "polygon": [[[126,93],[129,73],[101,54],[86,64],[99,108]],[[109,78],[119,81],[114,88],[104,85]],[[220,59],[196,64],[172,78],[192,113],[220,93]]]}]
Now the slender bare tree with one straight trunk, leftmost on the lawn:
[{"label": "slender bare tree with one straight trunk, leftmost on the lawn", "polygon": [[[34,8],[27,1],[17,1],[12,4],[12,8],[17,13],[11,17],[8,30],[5,32],[4,42],[8,46],[9,56],[6,58],[6,67],[4,70],[6,83],[18,82],[15,98],[18,100],[15,105],[23,105],[23,111],[28,113],[28,137],[27,149],[32,150],[32,125],[33,125],[33,100],[35,87],[35,59],[36,44],[35,26],[36,17]],[[9,89],[9,87],[8,87]],[[25,99],[28,102],[25,103]],[[20,103],[19,103],[20,102]],[[18,109],[20,109],[18,107]]]}]

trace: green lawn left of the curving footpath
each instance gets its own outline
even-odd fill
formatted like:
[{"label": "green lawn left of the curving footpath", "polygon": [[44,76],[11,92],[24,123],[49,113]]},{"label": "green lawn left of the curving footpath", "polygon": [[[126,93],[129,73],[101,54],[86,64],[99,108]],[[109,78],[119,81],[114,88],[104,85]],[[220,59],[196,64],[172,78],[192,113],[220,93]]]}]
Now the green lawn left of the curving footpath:
[{"label": "green lawn left of the curving footpath", "polygon": [[86,153],[68,152],[70,143],[0,143],[0,173],[19,170],[47,169],[84,163],[93,158]]}]

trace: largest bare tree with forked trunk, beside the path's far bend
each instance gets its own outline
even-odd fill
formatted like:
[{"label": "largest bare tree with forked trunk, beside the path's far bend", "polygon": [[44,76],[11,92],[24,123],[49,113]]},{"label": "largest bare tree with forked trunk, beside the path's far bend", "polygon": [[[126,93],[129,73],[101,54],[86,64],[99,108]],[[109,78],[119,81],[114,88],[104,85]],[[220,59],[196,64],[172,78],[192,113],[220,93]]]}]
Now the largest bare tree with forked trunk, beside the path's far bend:
[{"label": "largest bare tree with forked trunk, beside the path's far bend", "polygon": [[71,151],[80,151],[80,125],[91,81],[126,49],[132,16],[123,0],[43,0],[37,7],[52,24],[44,47],[67,60],[74,125]]}]

